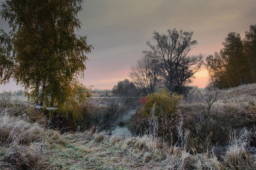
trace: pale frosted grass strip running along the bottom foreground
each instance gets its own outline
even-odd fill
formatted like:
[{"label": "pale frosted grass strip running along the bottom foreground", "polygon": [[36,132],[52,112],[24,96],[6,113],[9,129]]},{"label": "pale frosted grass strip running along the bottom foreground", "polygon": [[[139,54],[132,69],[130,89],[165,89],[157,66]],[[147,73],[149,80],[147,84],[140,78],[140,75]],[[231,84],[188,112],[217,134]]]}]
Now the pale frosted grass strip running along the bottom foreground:
[{"label": "pale frosted grass strip running along the bottom foreground", "polygon": [[[42,130],[44,131],[44,130]],[[1,169],[233,169],[255,168],[255,155],[247,152],[248,140],[240,135],[230,142],[219,161],[213,152],[192,155],[181,147],[162,143],[154,136],[121,139],[89,131],[60,135],[56,131],[40,153],[41,142],[1,146]],[[247,145],[246,145],[247,144]],[[240,163],[240,164],[239,164]],[[234,168],[234,169],[235,169]]]}]

